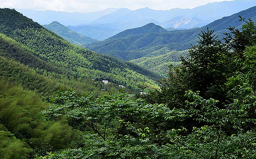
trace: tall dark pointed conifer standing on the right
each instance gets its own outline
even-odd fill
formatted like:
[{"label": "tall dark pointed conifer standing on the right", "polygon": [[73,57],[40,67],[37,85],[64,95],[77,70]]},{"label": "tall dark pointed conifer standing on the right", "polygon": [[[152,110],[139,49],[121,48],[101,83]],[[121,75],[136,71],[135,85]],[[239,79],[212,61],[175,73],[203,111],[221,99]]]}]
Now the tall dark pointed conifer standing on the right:
[{"label": "tall dark pointed conifer standing on the right", "polygon": [[206,98],[222,100],[227,74],[227,50],[213,33],[214,31],[209,31],[208,28],[207,31],[202,31],[198,37],[198,45],[188,50],[187,58],[181,57],[181,64],[184,67],[182,78],[188,89],[200,91]]}]

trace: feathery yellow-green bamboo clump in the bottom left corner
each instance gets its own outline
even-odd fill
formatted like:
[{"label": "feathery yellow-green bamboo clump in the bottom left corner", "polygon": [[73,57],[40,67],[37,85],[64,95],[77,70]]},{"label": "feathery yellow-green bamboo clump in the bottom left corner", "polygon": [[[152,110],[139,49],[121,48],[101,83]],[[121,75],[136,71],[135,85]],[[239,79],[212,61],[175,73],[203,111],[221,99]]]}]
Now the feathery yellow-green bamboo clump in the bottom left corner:
[{"label": "feathery yellow-green bamboo clump in the bottom left corner", "polygon": [[[62,118],[45,121],[40,111],[49,105],[34,91],[0,78],[0,158],[32,159],[49,150],[68,148],[80,132]],[[50,144],[49,144],[50,143]]]}]

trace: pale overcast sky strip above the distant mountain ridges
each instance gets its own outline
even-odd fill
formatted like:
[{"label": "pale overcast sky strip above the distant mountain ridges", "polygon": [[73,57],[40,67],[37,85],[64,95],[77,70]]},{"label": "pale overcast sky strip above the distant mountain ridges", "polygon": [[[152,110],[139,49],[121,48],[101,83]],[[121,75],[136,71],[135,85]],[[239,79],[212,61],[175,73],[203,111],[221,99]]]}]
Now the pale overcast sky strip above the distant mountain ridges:
[{"label": "pale overcast sky strip above the distant mountain ridges", "polygon": [[149,7],[166,10],[172,8],[194,8],[207,3],[224,0],[0,0],[0,8],[25,8],[65,12],[95,12],[107,8]]}]

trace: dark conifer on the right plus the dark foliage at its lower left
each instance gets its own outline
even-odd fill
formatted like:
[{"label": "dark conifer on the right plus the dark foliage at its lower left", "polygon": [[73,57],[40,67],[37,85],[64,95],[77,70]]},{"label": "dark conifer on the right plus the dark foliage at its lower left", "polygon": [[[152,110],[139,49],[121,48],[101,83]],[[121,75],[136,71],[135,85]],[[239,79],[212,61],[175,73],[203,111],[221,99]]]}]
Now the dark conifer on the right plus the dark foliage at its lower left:
[{"label": "dark conifer on the right plus the dark foliage at its lower left", "polygon": [[[147,96],[149,102],[157,100],[168,103],[169,107],[182,106],[186,90],[200,91],[206,99],[224,101],[224,84],[230,70],[227,47],[208,28],[198,38],[198,44],[191,46],[186,57],[181,57],[181,65],[171,66],[169,78],[160,81],[161,90]],[[156,100],[152,101],[154,96]]]}]

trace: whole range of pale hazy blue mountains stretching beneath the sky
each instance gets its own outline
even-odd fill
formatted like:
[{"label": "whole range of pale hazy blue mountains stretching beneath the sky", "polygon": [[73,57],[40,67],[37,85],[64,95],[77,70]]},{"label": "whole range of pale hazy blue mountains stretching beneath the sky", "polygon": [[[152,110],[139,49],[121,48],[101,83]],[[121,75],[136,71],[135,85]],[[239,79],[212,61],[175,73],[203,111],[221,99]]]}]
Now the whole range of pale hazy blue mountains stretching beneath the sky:
[{"label": "whole range of pale hazy blue mountains stretching beneath the sky", "polygon": [[[63,25],[99,25],[99,24],[116,24],[113,27],[115,29],[125,30],[128,28],[136,28],[147,23],[138,23],[148,19],[153,19],[159,23],[154,22],[157,25],[161,25],[165,28],[167,25],[165,22],[170,21],[176,17],[183,17],[186,19],[198,18],[202,20],[203,24],[195,25],[179,25],[179,28],[194,28],[213,22],[216,19],[220,19],[224,16],[230,16],[236,12],[240,12],[243,9],[248,9],[256,5],[256,0],[232,0],[208,3],[204,6],[198,6],[193,9],[169,9],[169,10],[154,10],[150,8],[142,8],[136,10],[130,10],[127,8],[109,8],[103,11],[81,13],[81,12],[55,12],[55,11],[39,11],[29,9],[17,9],[22,12],[23,15],[33,19],[40,24],[49,24],[53,21],[58,21]],[[119,28],[120,24],[132,23],[125,28]],[[149,23],[149,22],[148,22]],[[117,25],[119,24],[119,25]],[[191,23],[193,24],[193,23]],[[104,28],[113,28],[105,26]],[[166,28],[174,27],[167,25]],[[174,27],[175,28],[175,27]]]}]

